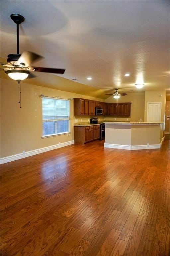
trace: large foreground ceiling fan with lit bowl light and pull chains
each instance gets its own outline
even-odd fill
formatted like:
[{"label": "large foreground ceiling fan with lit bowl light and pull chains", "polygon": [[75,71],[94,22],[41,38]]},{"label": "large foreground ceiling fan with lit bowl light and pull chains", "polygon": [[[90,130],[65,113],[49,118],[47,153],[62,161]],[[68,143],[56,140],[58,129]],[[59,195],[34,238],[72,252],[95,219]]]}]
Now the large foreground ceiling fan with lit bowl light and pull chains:
[{"label": "large foreground ceiling fan with lit bowl light and pull chains", "polygon": [[32,63],[42,59],[41,55],[38,55],[34,52],[24,51],[22,54],[19,53],[19,24],[21,24],[25,18],[20,14],[11,14],[11,19],[14,23],[17,24],[17,53],[9,54],[7,58],[8,63],[2,63],[1,65],[5,70],[5,73],[12,79],[16,80],[19,84],[18,93],[19,93],[19,103],[21,108],[21,80],[26,78],[37,77],[32,72],[46,72],[54,74],[64,74],[65,69],[60,68],[43,68],[32,66]]}]

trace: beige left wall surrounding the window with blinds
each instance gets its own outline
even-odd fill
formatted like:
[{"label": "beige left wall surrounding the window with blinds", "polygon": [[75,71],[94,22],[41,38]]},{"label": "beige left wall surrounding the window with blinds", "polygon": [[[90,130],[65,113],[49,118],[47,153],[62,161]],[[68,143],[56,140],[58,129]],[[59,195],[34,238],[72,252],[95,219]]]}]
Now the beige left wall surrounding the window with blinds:
[{"label": "beige left wall surrounding the window with blinds", "polygon": [[[59,142],[74,139],[73,100],[70,100],[70,134],[42,139],[42,98],[41,94],[60,98],[103,99],[70,93],[46,87],[21,83],[22,108],[18,103],[18,85],[16,81],[1,79],[1,157],[25,151],[39,149]],[[88,117],[81,117],[86,121]],[[79,117],[80,119],[80,117]]]}]

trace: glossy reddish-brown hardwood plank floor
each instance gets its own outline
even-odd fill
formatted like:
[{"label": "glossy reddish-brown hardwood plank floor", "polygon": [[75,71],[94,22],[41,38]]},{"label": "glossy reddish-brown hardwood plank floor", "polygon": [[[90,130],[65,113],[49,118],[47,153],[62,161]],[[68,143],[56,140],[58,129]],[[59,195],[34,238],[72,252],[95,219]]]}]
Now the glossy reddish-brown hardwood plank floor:
[{"label": "glossy reddish-brown hardwood plank floor", "polygon": [[1,165],[1,256],[170,255],[170,140],[103,143]]}]

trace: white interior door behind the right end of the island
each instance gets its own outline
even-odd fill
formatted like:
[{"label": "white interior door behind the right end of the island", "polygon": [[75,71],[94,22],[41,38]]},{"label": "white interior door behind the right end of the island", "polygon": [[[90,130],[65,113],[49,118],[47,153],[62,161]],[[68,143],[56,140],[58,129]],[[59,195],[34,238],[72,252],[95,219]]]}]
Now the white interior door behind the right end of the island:
[{"label": "white interior door behind the right end of the island", "polygon": [[149,103],[147,106],[147,122],[161,121],[161,102]]}]

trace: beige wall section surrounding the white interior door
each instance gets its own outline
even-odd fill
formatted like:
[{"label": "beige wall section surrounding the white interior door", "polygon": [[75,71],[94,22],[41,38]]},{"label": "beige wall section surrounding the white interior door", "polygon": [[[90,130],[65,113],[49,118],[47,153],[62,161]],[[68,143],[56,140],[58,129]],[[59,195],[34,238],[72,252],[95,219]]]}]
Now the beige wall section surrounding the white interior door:
[{"label": "beige wall section surrounding the white interior door", "polygon": [[145,91],[145,111],[144,111],[145,122],[147,122],[147,103],[148,102],[161,102],[161,120],[160,121],[164,122],[165,121],[165,103],[166,103],[165,90]]}]

